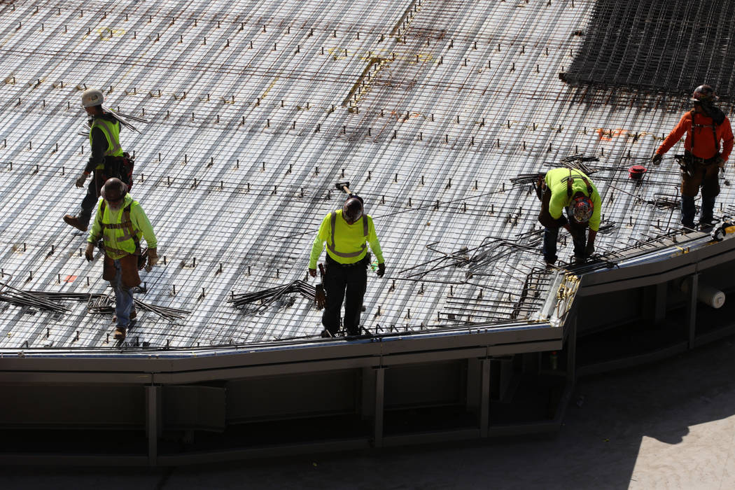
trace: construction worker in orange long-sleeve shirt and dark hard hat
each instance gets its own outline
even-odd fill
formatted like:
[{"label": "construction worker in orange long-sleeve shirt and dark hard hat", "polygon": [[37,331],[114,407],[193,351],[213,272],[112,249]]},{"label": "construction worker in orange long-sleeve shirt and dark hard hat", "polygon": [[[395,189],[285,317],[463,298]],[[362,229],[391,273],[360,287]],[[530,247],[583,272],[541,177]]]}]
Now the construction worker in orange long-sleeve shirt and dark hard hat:
[{"label": "construction worker in orange long-sleeve shirt and dark hard hat", "polygon": [[[700,187],[702,209],[699,225],[702,228],[711,227],[714,201],[720,194],[717,176],[720,168],[725,168],[725,162],[733,149],[730,120],[714,105],[717,99],[709,85],[695,88],[690,99],[694,109],[681,116],[679,123],[651,159],[653,165],[659,165],[662,156],[686,133],[681,170],[681,224],[686,228],[694,228],[694,198]],[[723,142],[722,147],[720,140]]]}]

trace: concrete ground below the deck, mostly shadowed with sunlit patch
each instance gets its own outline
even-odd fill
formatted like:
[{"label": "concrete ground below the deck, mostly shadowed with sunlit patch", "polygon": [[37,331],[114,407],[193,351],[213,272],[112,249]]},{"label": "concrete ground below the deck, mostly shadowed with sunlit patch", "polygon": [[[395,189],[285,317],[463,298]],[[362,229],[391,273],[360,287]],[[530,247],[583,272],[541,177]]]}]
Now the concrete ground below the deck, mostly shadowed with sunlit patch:
[{"label": "concrete ground below the deck, mostly shadowed with sunlit patch", "polygon": [[173,469],[4,468],[4,489],[735,489],[735,339],[579,381],[553,437]]}]

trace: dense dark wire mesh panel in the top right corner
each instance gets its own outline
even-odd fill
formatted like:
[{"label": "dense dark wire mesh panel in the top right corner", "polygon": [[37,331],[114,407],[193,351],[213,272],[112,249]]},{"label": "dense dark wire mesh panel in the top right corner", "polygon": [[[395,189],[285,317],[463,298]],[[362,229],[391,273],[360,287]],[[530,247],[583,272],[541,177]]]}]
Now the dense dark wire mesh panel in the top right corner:
[{"label": "dense dark wire mesh panel in the top right corner", "polygon": [[595,1],[564,81],[691,93],[707,83],[733,96],[732,1]]}]

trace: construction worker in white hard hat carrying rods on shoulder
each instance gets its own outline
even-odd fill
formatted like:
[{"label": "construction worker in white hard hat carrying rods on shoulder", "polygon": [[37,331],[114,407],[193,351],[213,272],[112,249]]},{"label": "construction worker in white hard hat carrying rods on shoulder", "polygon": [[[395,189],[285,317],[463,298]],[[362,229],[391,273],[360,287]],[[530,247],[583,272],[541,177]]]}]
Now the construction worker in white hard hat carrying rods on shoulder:
[{"label": "construction worker in white hard hat carrying rods on shoulder", "polygon": [[92,211],[99,198],[102,184],[110,177],[121,176],[123,149],[120,145],[120,123],[103,109],[104,95],[101,90],[90,88],[82,93],[82,106],[90,116],[90,145],[92,156],[82,174],[76,179],[76,187],[84,187],[87,177],[92,180],[87,194],[76,216],[65,215],[64,221],[81,231],[87,231]]}]

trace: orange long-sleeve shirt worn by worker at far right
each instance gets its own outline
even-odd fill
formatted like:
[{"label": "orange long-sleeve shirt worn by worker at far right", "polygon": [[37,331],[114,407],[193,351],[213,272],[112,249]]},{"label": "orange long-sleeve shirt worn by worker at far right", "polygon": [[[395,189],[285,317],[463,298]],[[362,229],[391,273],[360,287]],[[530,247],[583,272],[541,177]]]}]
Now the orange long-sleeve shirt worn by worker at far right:
[{"label": "orange long-sleeve shirt worn by worker at far right", "polygon": [[[692,119],[693,114],[693,119]],[[692,122],[694,123],[694,147],[692,148]],[[723,159],[728,159],[733,150],[733,131],[730,126],[730,120],[725,118],[722,124],[715,126],[717,134],[717,140],[715,140],[715,134],[712,131],[714,120],[707,115],[700,114],[699,112],[686,112],[676,127],[669,133],[669,135],[661,143],[656,153],[663,155],[675,145],[678,140],[686,133],[686,139],[684,140],[684,149],[689,151],[692,155],[697,158],[711,159],[717,155],[717,143],[720,140],[723,142],[721,148],[722,151],[720,156]]]}]

